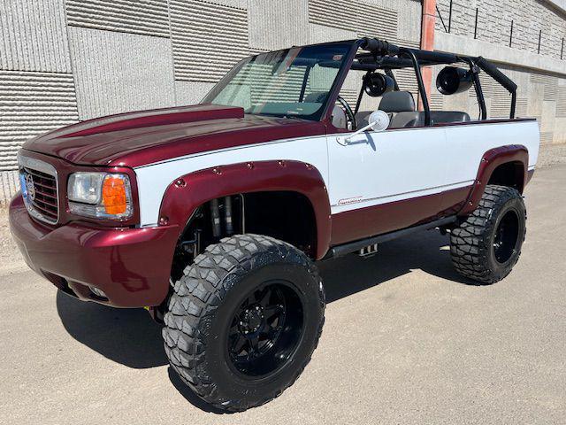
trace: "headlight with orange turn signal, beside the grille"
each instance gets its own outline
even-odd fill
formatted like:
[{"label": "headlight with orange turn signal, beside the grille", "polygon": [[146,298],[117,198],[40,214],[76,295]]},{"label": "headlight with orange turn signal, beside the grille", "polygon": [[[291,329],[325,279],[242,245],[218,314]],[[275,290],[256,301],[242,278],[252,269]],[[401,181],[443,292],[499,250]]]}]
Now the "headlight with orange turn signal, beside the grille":
[{"label": "headlight with orange turn signal, beside the grille", "polygon": [[74,173],[67,185],[71,213],[101,219],[132,217],[132,189],[126,174]]}]

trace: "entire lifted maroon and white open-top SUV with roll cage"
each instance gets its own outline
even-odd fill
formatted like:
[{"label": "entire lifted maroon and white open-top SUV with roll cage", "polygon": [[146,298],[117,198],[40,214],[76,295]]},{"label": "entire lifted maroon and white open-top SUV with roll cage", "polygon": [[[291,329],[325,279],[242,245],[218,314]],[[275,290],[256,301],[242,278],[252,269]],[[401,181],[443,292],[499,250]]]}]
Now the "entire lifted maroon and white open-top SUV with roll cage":
[{"label": "entire lifted maroon and white open-top SUV with roll cage", "polygon": [[[473,89],[479,119],[431,111],[421,66],[445,66],[443,95]],[[402,68],[421,110],[395,79]],[[509,119],[486,119],[481,72],[509,90]],[[361,85],[353,107],[345,81]],[[516,119],[515,104],[515,83],[483,58],[367,38],[263,53],[202,104],[25,143],[11,232],[59,290],[148,307],[183,381],[245,410],[294,383],[317,346],[317,260],[440,228],[461,274],[509,274],[539,151],[536,121]]]}]

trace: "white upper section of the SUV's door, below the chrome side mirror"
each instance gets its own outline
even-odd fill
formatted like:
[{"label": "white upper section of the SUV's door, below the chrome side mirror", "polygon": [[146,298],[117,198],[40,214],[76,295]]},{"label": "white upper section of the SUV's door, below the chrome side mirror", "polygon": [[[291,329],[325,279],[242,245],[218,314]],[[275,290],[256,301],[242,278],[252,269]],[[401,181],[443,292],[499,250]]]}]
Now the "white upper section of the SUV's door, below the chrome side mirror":
[{"label": "white upper section of the SUV's door, below the chrome side mirror", "polygon": [[445,190],[446,148],[444,128],[366,132],[346,145],[330,135],[333,213]]}]

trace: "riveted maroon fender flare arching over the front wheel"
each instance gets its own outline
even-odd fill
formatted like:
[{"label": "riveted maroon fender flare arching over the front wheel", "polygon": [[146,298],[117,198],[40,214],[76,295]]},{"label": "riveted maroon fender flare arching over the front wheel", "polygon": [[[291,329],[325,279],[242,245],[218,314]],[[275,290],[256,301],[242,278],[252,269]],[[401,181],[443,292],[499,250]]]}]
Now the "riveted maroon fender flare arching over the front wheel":
[{"label": "riveted maroon fender flare arching over the front wheel", "polygon": [[246,162],[185,174],[165,190],[159,222],[179,225],[182,234],[195,209],[211,199],[277,190],[298,192],[310,200],[317,226],[316,259],[322,259],[330,244],[330,201],[317,168],[299,161]]}]

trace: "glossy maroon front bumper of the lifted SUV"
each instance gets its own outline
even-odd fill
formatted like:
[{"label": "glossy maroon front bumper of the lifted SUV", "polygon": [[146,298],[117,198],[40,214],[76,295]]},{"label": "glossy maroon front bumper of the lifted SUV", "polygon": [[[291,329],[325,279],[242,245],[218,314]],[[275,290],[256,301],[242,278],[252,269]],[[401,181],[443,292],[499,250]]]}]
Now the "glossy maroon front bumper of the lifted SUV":
[{"label": "glossy maroon front bumper of the lifted SUV", "polygon": [[[11,234],[27,265],[80,299],[117,307],[160,305],[169,290],[177,226],[51,228],[27,213],[20,194],[11,200]],[[97,297],[89,287],[103,290]]]}]

